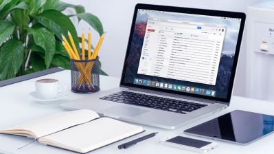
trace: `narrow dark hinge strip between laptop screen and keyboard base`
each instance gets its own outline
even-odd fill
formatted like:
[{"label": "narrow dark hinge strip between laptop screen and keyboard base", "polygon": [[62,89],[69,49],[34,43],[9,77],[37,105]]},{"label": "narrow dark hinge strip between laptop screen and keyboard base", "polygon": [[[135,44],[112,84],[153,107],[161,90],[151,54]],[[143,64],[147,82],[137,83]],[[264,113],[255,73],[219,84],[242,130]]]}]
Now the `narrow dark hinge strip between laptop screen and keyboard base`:
[{"label": "narrow dark hinge strip between laptop screen and keyboard base", "polygon": [[165,92],[161,92],[161,91],[154,91],[154,90],[149,90],[149,89],[141,89],[141,88],[136,88],[136,87],[128,87],[129,90],[133,90],[133,91],[140,91],[140,92],[145,92],[145,93],[150,93],[150,94],[157,94],[157,95],[161,95],[161,96],[169,96],[169,97],[174,97],[174,98],[181,98],[181,99],[187,99],[187,100],[194,100],[194,101],[198,101],[198,102],[207,102],[207,103],[221,103],[221,104],[229,104],[228,102],[220,102],[220,101],[216,101],[216,100],[207,100],[207,99],[203,99],[203,98],[194,98],[191,96],[183,96],[183,95],[179,95],[179,94],[170,94],[170,93],[165,93]]}]

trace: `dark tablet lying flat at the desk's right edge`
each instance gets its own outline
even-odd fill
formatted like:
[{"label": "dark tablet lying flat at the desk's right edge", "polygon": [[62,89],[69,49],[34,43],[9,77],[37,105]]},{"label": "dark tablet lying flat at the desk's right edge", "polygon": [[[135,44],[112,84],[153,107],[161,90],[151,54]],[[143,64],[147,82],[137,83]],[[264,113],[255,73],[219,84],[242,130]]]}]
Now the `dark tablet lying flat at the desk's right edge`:
[{"label": "dark tablet lying flat at the desk's right edge", "polygon": [[249,144],[272,133],[273,129],[273,115],[235,110],[184,132],[237,144]]}]

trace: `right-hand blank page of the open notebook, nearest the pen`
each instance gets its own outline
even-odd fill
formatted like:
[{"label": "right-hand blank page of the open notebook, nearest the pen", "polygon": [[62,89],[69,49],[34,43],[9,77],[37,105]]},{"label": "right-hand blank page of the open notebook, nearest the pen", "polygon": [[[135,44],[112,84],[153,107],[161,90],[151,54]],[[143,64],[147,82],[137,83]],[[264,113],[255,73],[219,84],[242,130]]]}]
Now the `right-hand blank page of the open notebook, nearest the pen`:
[{"label": "right-hand blank page of the open notebook, nearest the pen", "polygon": [[87,153],[101,146],[122,140],[143,131],[141,126],[111,118],[99,118],[86,124],[41,137],[39,142],[79,153]]}]

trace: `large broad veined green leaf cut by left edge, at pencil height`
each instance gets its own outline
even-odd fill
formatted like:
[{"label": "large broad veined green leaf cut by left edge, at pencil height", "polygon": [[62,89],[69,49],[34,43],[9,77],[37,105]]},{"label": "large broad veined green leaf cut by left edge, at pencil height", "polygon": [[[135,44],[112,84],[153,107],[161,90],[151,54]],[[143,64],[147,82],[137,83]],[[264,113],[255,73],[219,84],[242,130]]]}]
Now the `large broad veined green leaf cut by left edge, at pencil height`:
[{"label": "large broad veined green leaf cut by left edge, at pencil height", "polygon": [[14,78],[23,63],[23,43],[9,40],[0,49],[0,80]]}]

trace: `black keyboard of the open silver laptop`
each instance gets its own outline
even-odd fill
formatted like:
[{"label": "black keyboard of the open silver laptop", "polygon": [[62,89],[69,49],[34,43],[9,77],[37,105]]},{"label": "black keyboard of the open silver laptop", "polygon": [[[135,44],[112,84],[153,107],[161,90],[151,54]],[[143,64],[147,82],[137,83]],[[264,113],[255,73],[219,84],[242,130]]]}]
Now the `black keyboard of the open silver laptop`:
[{"label": "black keyboard of the open silver laptop", "polygon": [[160,109],[163,111],[172,111],[182,114],[207,106],[207,104],[199,104],[184,100],[175,100],[158,96],[150,96],[130,91],[119,91],[115,94],[104,96],[100,99],[110,100],[112,102],[120,102],[124,104],[133,104],[141,107]]}]

